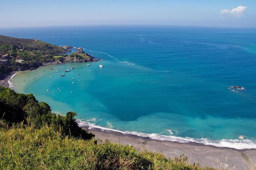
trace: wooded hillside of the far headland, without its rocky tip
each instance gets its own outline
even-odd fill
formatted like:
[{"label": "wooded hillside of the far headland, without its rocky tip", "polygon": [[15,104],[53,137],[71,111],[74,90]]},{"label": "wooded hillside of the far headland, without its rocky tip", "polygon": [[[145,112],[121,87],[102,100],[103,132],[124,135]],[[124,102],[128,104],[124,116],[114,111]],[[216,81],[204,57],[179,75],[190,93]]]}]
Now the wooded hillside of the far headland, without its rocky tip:
[{"label": "wooded hillside of the far headland, without its rocky tip", "polygon": [[[55,62],[56,58],[45,57],[45,55],[65,51],[62,47],[39,40],[0,35],[0,58],[8,59],[7,63],[0,64],[0,77],[12,71],[34,70],[43,63]],[[8,57],[3,58],[3,54],[7,54]],[[17,59],[25,60],[25,62],[17,63],[15,62]]]}]

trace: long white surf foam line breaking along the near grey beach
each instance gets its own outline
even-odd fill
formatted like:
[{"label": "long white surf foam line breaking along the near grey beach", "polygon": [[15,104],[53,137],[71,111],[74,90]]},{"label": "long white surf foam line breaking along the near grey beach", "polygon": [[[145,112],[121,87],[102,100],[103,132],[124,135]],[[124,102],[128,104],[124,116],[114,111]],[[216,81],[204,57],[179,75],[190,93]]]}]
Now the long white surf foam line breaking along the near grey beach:
[{"label": "long white surf foam line breaking along the near grey beach", "polygon": [[99,128],[102,131],[119,132],[119,133],[123,133],[123,134],[132,134],[132,135],[137,135],[140,137],[149,137],[149,138],[155,139],[155,140],[180,142],[180,143],[195,142],[195,143],[202,143],[204,145],[212,145],[212,146],[216,146],[216,147],[228,147],[228,148],[235,148],[235,149],[252,149],[252,148],[256,149],[256,140],[249,140],[249,139],[210,140],[207,138],[177,137],[177,136],[173,136],[173,135],[160,135],[157,133],[140,133],[140,132],[115,130],[115,129],[108,128],[108,127],[98,126],[95,123],[84,122],[83,120],[77,120],[77,123],[80,126],[86,125],[89,127],[89,129]]}]

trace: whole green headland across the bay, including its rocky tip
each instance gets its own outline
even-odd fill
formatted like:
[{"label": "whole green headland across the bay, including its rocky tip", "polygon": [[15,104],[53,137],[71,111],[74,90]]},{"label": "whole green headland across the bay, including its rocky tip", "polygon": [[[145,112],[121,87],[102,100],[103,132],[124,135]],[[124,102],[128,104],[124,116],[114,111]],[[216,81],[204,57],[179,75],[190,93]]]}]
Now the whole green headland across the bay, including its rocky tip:
[{"label": "whole green headland across the bay, including its rocky tip", "polygon": [[[65,48],[71,48],[65,46]],[[69,50],[40,40],[13,38],[0,35],[0,58],[8,62],[0,62],[0,77],[12,71],[34,70],[43,63],[93,62],[97,61],[86,53],[77,55],[61,55]],[[4,54],[8,56],[3,57]],[[11,56],[11,57],[10,57]],[[17,63],[22,59],[25,62]]]}]

